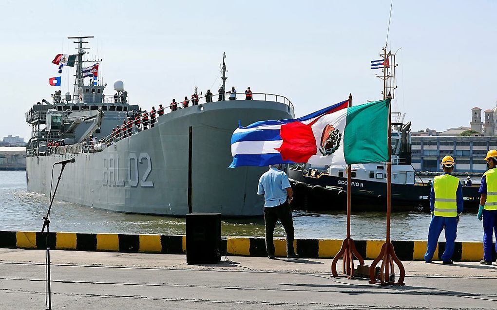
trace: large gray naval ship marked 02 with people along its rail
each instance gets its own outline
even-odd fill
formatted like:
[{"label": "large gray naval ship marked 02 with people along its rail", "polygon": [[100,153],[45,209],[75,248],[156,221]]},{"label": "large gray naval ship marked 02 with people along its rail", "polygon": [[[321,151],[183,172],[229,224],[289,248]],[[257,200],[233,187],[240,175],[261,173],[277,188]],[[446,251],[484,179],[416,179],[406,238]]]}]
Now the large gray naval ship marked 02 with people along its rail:
[{"label": "large gray naval ship marked 02 with people along its rail", "polygon": [[[57,199],[127,213],[184,216],[190,212],[221,212],[223,216],[258,216],[263,199],[256,195],[260,167],[228,169],[232,161],[231,135],[239,121],[294,118],[294,107],[281,95],[252,93],[253,100],[238,94],[232,101],[216,94],[214,102],[170,111],[145,129],[146,118],[128,123],[141,111],[130,103],[123,82],[116,95],[106,96],[107,84],[84,77],[83,41],[77,43],[74,92],[43,99],[26,112],[32,137],[26,149],[27,189],[49,194],[54,163],[75,158],[66,165]],[[225,55],[221,65],[226,89]],[[243,98],[240,98],[243,95]],[[216,99],[219,99],[216,101]],[[241,100],[242,99],[242,100]],[[193,102],[194,103],[194,102]],[[149,115],[149,117],[151,117]],[[129,128],[128,128],[129,127]],[[93,136],[92,141],[88,139]],[[61,165],[55,166],[53,180]]]}]

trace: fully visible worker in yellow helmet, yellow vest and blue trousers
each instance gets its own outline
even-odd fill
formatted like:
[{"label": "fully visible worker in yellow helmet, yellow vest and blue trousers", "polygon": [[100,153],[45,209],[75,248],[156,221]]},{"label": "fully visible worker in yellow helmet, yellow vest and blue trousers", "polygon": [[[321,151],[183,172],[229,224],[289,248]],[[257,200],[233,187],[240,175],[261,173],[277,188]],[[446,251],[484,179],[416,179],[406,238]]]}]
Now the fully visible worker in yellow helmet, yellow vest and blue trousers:
[{"label": "fully visible worker in yellow helmet, yellow vest and blue trousers", "polygon": [[445,251],[442,254],[443,264],[452,264],[454,243],[456,241],[457,222],[463,211],[463,189],[459,178],[451,175],[454,159],[447,155],[442,159],[443,175],[433,180],[430,193],[431,223],[428,230],[428,247],[424,260],[431,262],[438,244],[438,237],[445,231]]}]

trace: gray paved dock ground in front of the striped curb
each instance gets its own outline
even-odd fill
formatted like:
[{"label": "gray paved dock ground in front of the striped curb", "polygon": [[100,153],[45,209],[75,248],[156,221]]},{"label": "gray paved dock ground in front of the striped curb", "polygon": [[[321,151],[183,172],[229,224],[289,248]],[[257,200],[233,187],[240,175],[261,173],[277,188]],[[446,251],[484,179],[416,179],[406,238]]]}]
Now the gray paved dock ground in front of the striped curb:
[{"label": "gray paved dock ground in front of the striped curb", "polygon": [[[53,309],[497,309],[497,266],[405,262],[404,287],[331,279],[329,259],[51,251]],[[45,309],[45,251],[0,249],[0,309]]]}]

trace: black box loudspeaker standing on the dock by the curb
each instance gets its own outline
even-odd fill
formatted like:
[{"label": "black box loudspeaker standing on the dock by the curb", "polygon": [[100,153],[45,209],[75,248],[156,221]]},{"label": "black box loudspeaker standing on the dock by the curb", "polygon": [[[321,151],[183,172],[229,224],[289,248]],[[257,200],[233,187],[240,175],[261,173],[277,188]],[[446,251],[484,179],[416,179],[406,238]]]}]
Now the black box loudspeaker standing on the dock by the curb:
[{"label": "black box loudspeaker standing on the dock by the curb", "polygon": [[220,259],[221,213],[186,214],[186,263],[215,264]]}]

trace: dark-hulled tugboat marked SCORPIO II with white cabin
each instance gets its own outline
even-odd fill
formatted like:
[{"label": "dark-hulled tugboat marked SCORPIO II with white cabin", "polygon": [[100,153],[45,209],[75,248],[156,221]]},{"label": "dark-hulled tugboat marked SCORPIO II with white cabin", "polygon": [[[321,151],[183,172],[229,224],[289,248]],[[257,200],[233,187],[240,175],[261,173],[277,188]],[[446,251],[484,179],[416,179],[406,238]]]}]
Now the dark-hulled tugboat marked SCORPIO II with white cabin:
[{"label": "dark-hulled tugboat marked SCORPIO II with white cabin", "polygon": [[[383,67],[384,92],[393,98],[395,89],[395,54],[386,52]],[[385,56],[384,56],[385,55]],[[390,61],[387,61],[390,60]],[[389,65],[393,63],[394,65]],[[424,183],[411,164],[411,122],[404,124],[405,114],[392,113],[392,211],[429,212],[431,186]],[[386,209],[386,163],[352,165],[351,199],[354,210],[384,211]],[[456,163],[457,169],[457,163]],[[312,211],[345,210],[347,196],[347,167],[311,167],[295,165],[288,168],[294,189],[294,209]],[[479,205],[478,187],[463,187],[465,208]]]}]

